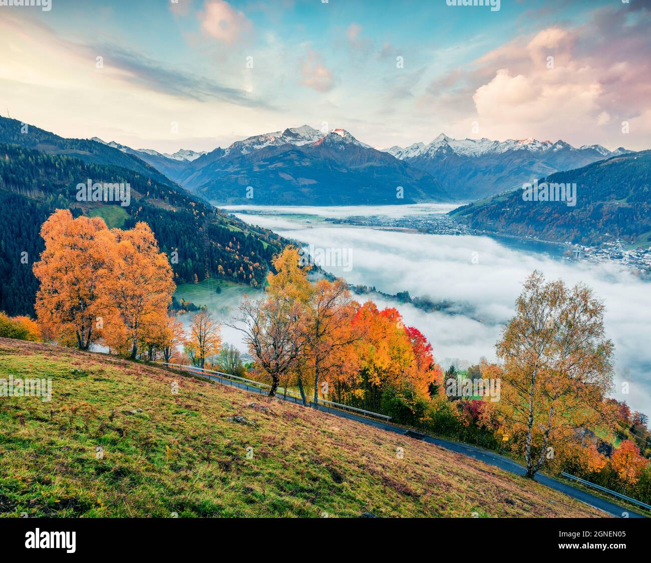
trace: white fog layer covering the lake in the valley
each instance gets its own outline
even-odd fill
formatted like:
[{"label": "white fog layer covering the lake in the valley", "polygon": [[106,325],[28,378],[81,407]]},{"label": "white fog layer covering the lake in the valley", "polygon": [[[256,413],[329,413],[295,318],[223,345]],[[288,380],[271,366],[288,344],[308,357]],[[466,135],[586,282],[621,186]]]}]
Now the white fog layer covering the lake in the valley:
[{"label": "white fog layer covering the lake in the valley", "polygon": [[[615,342],[616,396],[633,410],[651,413],[651,284],[621,264],[587,264],[562,259],[562,247],[488,236],[453,236],[396,232],[327,223],[332,217],[434,215],[454,205],[223,208],[243,221],[314,245],[335,249],[348,260],[319,264],[353,284],[375,286],[387,294],[408,291],[412,297],[456,303],[454,312],[424,312],[413,305],[373,296],[378,306],[400,310],[434,346],[437,361],[477,363],[495,359],[494,345],[514,314],[521,283],[534,269],[547,279],[583,282],[606,305],[605,328]],[[240,212],[240,211],[245,212]],[[318,260],[316,260],[318,263]],[[359,297],[358,299],[365,299]],[[622,393],[622,383],[629,393]]]}]

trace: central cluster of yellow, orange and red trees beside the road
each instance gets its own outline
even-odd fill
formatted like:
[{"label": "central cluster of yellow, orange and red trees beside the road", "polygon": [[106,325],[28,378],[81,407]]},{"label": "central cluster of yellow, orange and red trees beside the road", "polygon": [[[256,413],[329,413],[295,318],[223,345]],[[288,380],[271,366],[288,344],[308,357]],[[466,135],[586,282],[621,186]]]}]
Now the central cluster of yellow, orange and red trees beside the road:
[{"label": "central cluster of yellow, orange and red trees beside the road", "polygon": [[[239,325],[258,368],[273,389],[298,386],[314,391],[312,402],[327,399],[380,411],[390,392],[406,409],[428,399],[430,384],[441,381],[432,346],[420,331],[406,327],[398,310],[361,305],[344,281],[311,283],[298,250],[288,247],[273,260],[266,298],[247,300]],[[393,404],[393,403],[392,403]]]}]

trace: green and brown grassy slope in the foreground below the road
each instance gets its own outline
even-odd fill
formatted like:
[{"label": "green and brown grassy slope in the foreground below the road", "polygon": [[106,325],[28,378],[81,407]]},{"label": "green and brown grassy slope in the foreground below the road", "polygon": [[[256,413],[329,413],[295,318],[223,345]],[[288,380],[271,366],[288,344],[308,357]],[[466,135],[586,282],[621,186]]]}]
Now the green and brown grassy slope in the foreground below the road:
[{"label": "green and brown grassy slope in the foreground below the road", "polygon": [[115,357],[0,338],[9,374],[52,378],[53,400],[0,398],[8,515],[604,515],[438,446]]}]

